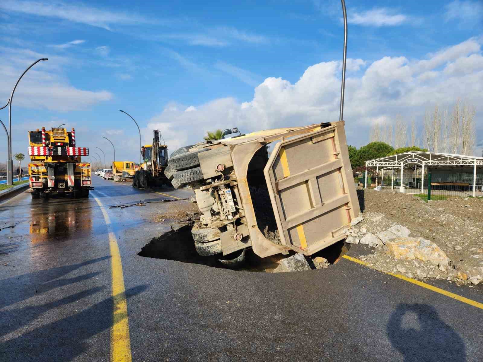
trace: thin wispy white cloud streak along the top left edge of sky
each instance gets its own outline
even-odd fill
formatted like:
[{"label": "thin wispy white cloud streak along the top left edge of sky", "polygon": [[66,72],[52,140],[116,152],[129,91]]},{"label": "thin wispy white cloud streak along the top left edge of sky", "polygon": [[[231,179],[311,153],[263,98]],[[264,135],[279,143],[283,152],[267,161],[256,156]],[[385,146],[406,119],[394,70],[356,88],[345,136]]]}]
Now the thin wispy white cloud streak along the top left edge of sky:
[{"label": "thin wispy white cloud streak along the top left edge of sky", "polygon": [[0,9],[6,12],[16,12],[68,20],[71,22],[91,25],[107,30],[110,30],[110,25],[113,24],[132,25],[140,23],[152,23],[151,20],[133,13],[114,12],[64,2],[49,3],[42,1],[2,0],[0,2]]}]

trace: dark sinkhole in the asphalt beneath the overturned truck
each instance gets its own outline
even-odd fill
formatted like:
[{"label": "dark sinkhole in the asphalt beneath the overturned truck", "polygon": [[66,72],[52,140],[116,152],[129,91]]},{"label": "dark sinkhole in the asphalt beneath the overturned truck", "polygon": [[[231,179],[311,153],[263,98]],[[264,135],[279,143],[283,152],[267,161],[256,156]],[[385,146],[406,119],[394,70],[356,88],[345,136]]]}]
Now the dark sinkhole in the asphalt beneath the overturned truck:
[{"label": "dark sinkhole in the asphalt beneath the overturned truck", "polygon": [[[215,268],[231,269],[236,271],[249,271],[249,272],[277,272],[280,268],[281,261],[284,258],[293,255],[272,255],[266,258],[260,258],[252,249],[246,251],[245,262],[238,267],[227,267],[218,261],[216,255],[213,256],[201,256],[195,249],[193,238],[191,237],[191,223],[186,223],[181,227],[177,227],[169,232],[160,235],[159,237],[153,237],[141,251],[139,256],[174,260],[183,263],[207,265]],[[349,251],[350,244],[344,243],[343,240],[325,248],[306,258],[312,269],[315,269],[313,259],[317,256],[326,258],[330,265],[336,264],[342,255]]]}]

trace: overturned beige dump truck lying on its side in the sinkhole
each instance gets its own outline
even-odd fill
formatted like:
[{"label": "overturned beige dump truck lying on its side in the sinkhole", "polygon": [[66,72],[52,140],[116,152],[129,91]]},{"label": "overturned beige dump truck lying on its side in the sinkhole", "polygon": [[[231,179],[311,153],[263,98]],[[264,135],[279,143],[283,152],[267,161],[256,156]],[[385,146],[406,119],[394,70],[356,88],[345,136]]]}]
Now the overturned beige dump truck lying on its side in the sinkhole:
[{"label": "overturned beige dump truck lying on its side in the sinkhole", "polygon": [[344,239],[359,214],[344,122],[279,128],[184,147],[168,162],[175,188],[194,190],[200,255],[227,265],[312,255]]}]

